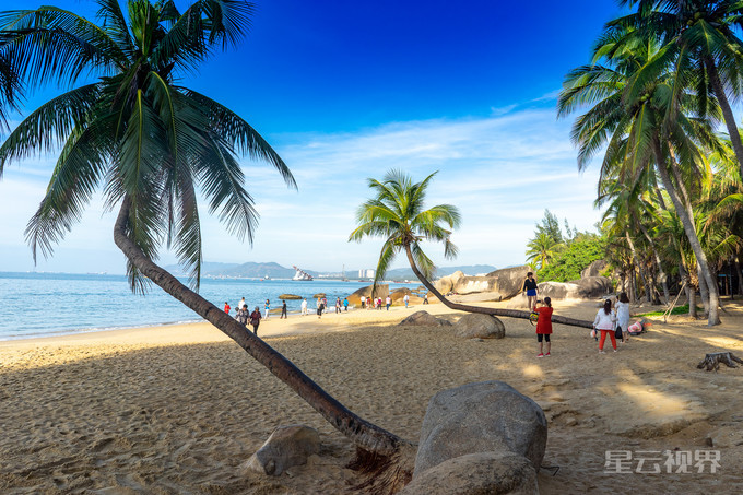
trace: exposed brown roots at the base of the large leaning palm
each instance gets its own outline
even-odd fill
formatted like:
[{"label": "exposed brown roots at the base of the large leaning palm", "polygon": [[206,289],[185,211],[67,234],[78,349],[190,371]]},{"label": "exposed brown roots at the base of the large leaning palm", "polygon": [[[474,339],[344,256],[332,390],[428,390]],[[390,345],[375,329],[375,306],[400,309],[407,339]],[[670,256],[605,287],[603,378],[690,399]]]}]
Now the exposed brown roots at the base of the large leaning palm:
[{"label": "exposed brown roots at the base of the large leaning palm", "polygon": [[366,474],[355,491],[374,495],[392,495],[401,491],[413,479],[417,447],[403,444],[391,456],[381,456],[356,447],[356,457],[346,468]]}]

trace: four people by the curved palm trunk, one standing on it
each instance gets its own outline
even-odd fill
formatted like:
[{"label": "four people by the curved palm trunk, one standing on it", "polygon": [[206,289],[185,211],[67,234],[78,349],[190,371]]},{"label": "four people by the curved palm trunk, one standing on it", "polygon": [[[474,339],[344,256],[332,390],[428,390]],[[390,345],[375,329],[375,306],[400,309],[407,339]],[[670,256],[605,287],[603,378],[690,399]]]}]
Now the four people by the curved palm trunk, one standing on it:
[{"label": "four people by the curved palm trunk, one standing on it", "polygon": [[[551,356],[550,335],[552,334],[552,299],[544,297],[539,299],[539,286],[533,272],[527,273],[527,278],[521,285],[521,291],[527,293],[527,302],[532,314],[536,316],[536,342],[539,353],[536,357]],[[539,306],[538,306],[539,305]],[[629,298],[626,293],[621,293],[613,304],[612,299],[604,300],[603,306],[595,315],[591,335],[599,341],[599,353],[605,354],[604,343],[609,335],[612,347],[616,352],[616,342],[629,341],[629,335],[642,331],[642,323],[637,321],[629,323]],[[543,345],[546,343],[546,346]],[[544,349],[546,347],[546,349]],[[546,351],[546,352],[544,352]]]}]

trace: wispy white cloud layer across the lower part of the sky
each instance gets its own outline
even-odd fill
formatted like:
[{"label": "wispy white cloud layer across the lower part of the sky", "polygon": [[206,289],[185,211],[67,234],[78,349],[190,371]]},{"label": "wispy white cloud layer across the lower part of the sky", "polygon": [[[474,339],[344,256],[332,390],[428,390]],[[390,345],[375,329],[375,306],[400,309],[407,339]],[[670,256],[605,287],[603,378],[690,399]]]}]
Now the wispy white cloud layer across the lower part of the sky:
[{"label": "wispy white cloud layer across the lower part of the sky", "polygon": [[[547,99],[545,95],[542,99]],[[539,98],[538,98],[539,99]],[[463,219],[452,240],[460,247],[457,264],[521,263],[534,223],[550,209],[579,229],[592,228],[599,212],[592,208],[598,174],[580,175],[569,142],[569,122],[557,121],[552,109],[508,109],[487,118],[392,122],[339,134],[282,135],[278,151],[292,169],[298,191],[286,188],[270,166],[245,162],[249,192],[260,224],[250,248],[229,237],[202,201],[205,259],[213,261],[276,261],[315,270],[339,271],[376,264],[380,239],[349,244],[355,212],[369,198],[368,177],[381,178],[400,168],[420,180],[439,170],[428,203],[457,205]],[[33,214],[54,161],[24,163],[0,182],[0,228],[7,246],[23,244],[25,222]],[[96,249],[120,261],[114,247],[114,213],[102,217],[96,198],[63,248]],[[440,246],[429,246],[443,258]],[[84,256],[84,255],[83,255]],[[105,257],[104,257],[105,258]],[[101,257],[96,257],[101,263]],[[165,260],[172,257],[165,256]],[[62,261],[60,261],[62,263]],[[104,263],[105,264],[105,263]],[[398,266],[404,266],[399,259]],[[12,269],[0,261],[0,270]],[[59,264],[57,271],[69,270]],[[87,271],[111,271],[91,267]],[[119,272],[123,271],[121,263]]]}]

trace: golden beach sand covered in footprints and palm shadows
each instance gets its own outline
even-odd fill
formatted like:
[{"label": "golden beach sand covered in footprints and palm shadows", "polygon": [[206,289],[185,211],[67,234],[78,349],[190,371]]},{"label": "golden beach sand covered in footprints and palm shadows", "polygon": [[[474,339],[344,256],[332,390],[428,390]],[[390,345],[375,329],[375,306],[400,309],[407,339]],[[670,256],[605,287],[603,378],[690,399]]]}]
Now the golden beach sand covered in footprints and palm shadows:
[{"label": "golden beach sand covered in footprints and palm shadows", "polygon": [[[264,321],[259,334],[354,412],[416,441],[428,399],[458,385],[503,380],[545,411],[542,494],[734,493],[743,461],[743,368],[696,369],[706,353],[743,357],[743,306],[724,323],[656,322],[600,355],[589,330],[555,326],[553,355],[536,358],[534,328],[504,319],[503,340],[451,329],[396,327],[441,305]],[[592,319],[595,302],[556,314]],[[322,439],[307,465],[271,478],[241,473],[280,425]],[[0,493],[334,494],[362,479],[353,446],[209,323],[0,342]],[[710,446],[711,444],[711,446]],[[604,472],[606,450],[646,458],[657,474]],[[719,451],[719,468],[667,473],[662,451]],[[736,483],[736,484],[734,484]]]}]

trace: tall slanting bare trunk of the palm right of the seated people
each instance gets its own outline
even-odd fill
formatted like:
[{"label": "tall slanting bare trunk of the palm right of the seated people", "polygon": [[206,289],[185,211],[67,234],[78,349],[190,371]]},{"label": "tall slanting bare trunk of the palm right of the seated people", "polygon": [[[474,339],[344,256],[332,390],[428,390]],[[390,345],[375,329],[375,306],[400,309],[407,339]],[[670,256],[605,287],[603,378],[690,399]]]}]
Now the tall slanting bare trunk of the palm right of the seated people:
[{"label": "tall slanting bare trunk of the palm right of the seated people", "polygon": [[[697,237],[696,234],[696,227],[694,226],[694,216],[693,212],[691,212],[691,204],[688,204],[688,208],[686,208],[686,205],[682,202],[681,198],[679,197],[676,189],[673,187],[673,182],[671,181],[669,172],[665,168],[665,160],[661,152],[660,140],[658,140],[657,138],[653,140],[653,152],[656,154],[657,162],[656,168],[658,169],[658,174],[661,177],[663,187],[671,197],[673,207],[675,208],[676,214],[679,215],[679,219],[681,220],[681,223],[684,226],[686,237],[688,238],[688,241],[692,245],[692,250],[694,250],[694,255],[696,256],[697,262],[699,263],[699,267],[701,269],[701,274],[704,275],[705,281],[707,282],[707,286],[709,287],[709,314],[708,314],[709,316],[707,319],[707,325],[710,327],[715,325],[720,325],[720,317],[718,313],[719,296],[717,294],[717,285],[715,285],[715,281],[711,280],[711,273],[709,271],[707,256],[701,249],[701,244],[699,244],[699,238]],[[671,163],[671,166],[674,166],[673,162]]]}]

